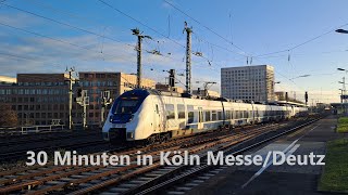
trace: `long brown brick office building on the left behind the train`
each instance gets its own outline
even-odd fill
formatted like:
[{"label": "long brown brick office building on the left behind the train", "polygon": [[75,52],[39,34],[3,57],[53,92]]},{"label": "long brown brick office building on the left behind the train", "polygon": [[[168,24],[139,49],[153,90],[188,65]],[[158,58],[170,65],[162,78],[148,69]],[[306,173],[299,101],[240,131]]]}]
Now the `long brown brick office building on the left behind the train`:
[{"label": "long brown brick office building on the left behind the train", "polygon": [[[16,82],[0,83],[0,103],[11,105],[17,113],[18,125],[50,125],[52,120],[69,122],[69,75],[67,74],[17,74]],[[142,79],[141,88],[154,88],[154,81]],[[78,89],[87,90],[87,125],[101,121],[101,92],[110,91],[115,100],[125,91],[136,88],[136,76],[123,73],[79,73],[79,81],[73,84],[73,96]],[[108,115],[110,105],[107,107]],[[73,122],[80,123],[83,107],[73,103]]]}]

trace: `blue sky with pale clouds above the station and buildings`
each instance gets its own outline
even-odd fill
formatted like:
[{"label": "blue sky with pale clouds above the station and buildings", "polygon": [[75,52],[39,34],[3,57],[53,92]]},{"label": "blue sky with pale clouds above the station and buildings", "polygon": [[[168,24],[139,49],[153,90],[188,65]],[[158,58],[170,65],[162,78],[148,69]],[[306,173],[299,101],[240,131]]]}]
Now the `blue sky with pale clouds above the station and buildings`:
[{"label": "blue sky with pale clouds above the station and buildings", "polygon": [[164,82],[171,68],[185,73],[187,22],[192,52],[202,53],[192,55],[192,88],[215,81],[220,91],[222,67],[268,64],[276,91],[339,102],[348,34],[335,29],[348,29],[347,8],[346,0],[0,0],[0,75],[136,73],[130,29],[139,28],[152,38],[142,41],[144,77]]}]

